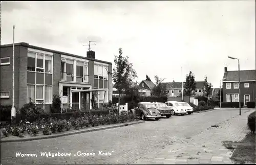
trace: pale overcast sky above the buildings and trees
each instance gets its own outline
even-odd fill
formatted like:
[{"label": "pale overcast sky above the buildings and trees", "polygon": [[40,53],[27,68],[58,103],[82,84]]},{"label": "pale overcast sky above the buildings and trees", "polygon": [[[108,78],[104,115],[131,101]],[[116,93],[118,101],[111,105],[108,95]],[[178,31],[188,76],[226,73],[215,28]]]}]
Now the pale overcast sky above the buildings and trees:
[{"label": "pale overcast sky above the buildings and trees", "polygon": [[[96,59],[129,56],[137,80],[204,76],[219,87],[228,70],[255,69],[255,1],[2,2],[1,44],[15,42]],[[181,66],[183,67],[181,72]]]}]

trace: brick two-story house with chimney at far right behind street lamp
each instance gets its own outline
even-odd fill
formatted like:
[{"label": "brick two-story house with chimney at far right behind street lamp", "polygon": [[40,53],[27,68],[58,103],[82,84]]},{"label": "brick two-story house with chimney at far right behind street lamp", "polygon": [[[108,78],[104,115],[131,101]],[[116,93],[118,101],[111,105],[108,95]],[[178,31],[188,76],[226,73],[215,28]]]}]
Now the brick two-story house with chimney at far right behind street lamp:
[{"label": "brick two-story house with chimney at far right behind street lamp", "polygon": [[[223,79],[223,102],[239,102],[238,70],[227,71],[225,67]],[[256,70],[240,70],[240,91],[244,105],[255,101]]]}]

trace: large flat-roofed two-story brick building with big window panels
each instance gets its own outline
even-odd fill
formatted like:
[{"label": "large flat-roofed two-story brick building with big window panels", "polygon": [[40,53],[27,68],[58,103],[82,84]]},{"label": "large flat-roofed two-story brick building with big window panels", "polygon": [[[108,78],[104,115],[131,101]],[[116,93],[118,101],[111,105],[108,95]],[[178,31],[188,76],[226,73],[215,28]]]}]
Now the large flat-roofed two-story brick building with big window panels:
[{"label": "large flat-roofed two-story brick building with big window panels", "polygon": [[[95,52],[87,57],[40,48],[28,43],[14,44],[14,102],[21,108],[30,101],[50,110],[53,95],[66,98],[63,108],[92,107],[92,92],[97,91],[100,107],[112,101],[112,63],[95,59]],[[12,104],[13,44],[1,45],[1,104]],[[103,89],[106,92],[105,97]],[[85,91],[85,92],[84,92]],[[63,99],[62,99],[63,100]]]}]

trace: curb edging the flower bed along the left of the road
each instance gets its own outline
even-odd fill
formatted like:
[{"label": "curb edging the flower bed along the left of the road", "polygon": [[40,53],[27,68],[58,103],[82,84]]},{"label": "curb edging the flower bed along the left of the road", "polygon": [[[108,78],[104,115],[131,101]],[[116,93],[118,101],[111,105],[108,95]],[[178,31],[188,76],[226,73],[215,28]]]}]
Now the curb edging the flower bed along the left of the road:
[{"label": "curb edging the flower bed along the left of the road", "polygon": [[27,138],[27,139],[12,139],[12,140],[2,140],[1,143],[8,143],[8,142],[27,142],[31,140],[41,140],[41,139],[49,139],[49,138],[56,138],[56,137],[62,137],[62,136],[68,136],[68,135],[75,135],[80,133],[87,133],[87,132],[94,132],[94,131],[101,131],[106,129],[112,129],[112,128],[118,128],[118,127],[125,127],[125,126],[131,126],[135,124],[145,123],[145,121],[137,121],[132,123],[126,123],[126,124],[118,124],[115,126],[109,126],[109,127],[103,127],[103,128],[93,128],[88,130],[81,130],[77,132],[70,132],[70,133],[63,133],[63,134],[57,134],[57,135],[50,135],[50,136],[43,136],[43,137],[33,137],[33,138]]}]

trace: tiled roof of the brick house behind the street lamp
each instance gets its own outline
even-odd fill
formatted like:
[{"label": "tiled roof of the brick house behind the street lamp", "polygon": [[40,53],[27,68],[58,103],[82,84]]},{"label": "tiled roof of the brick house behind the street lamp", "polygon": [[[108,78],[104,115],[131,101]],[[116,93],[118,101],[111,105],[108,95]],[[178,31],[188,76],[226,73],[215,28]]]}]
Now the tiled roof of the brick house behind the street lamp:
[{"label": "tiled roof of the brick house behind the street lamp", "polygon": [[[224,81],[238,81],[238,70],[227,71],[224,73],[223,78],[226,78]],[[256,80],[256,70],[240,70],[240,80],[241,81],[250,81]]]}]

